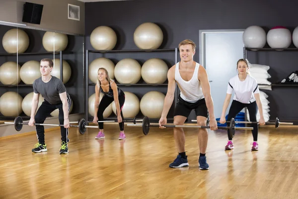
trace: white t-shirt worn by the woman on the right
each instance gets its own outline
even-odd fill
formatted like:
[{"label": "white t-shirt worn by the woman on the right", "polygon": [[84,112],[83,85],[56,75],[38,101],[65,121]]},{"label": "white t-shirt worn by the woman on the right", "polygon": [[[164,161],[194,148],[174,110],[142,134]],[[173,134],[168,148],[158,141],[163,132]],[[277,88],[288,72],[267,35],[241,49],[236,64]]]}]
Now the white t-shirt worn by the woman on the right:
[{"label": "white t-shirt worn by the woman on the right", "polygon": [[254,94],[260,93],[257,81],[247,75],[244,81],[240,81],[238,75],[232,77],[227,85],[227,94],[235,92],[233,100],[241,103],[252,103],[256,99]]}]

